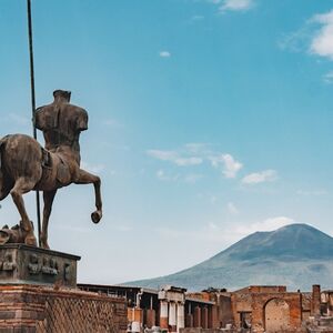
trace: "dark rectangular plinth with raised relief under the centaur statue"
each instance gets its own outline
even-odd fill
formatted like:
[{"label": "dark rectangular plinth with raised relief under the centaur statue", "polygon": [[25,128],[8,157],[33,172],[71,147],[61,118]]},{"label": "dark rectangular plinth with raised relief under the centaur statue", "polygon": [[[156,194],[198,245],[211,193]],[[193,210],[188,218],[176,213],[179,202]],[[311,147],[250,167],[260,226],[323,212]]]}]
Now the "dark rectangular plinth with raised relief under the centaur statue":
[{"label": "dark rectangular plinth with raised relief under the centaur statue", "polygon": [[77,262],[80,256],[29,246],[0,246],[1,284],[40,284],[58,287],[77,286]]}]

